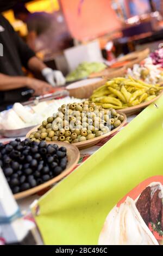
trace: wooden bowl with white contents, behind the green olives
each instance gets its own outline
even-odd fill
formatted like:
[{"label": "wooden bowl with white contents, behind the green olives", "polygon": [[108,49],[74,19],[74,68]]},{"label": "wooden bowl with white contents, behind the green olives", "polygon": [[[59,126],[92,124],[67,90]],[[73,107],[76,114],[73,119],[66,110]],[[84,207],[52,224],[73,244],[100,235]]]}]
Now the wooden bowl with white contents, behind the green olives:
[{"label": "wooden bowl with white contents, behind the green olives", "polygon": [[104,85],[106,81],[103,78],[84,79],[66,86],[66,90],[71,97],[87,99],[90,98],[94,90]]}]

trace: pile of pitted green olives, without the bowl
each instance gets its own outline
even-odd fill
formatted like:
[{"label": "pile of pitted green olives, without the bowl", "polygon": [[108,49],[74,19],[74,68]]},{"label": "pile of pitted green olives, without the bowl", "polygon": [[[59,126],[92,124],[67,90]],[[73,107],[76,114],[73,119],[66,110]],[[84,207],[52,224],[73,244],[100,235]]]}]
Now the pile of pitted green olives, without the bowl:
[{"label": "pile of pitted green olives, without the bowl", "polygon": [[89,101],[62,105],[53,117],[48,117],[29,135],[29,139],[77,143],[109,133],[123,120],[124,116],[115,109],[106,110]]}]

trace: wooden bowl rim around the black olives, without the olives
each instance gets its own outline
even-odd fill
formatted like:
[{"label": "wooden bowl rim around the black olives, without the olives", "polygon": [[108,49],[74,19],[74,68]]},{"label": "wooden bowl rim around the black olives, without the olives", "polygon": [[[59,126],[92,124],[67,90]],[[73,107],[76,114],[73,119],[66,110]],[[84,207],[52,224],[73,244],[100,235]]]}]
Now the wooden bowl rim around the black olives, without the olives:
[{"label": "wooden bowl rim around the black olives, without the olives", "polygon": [[52,180],[49,180],[37,187],[30,188],[26,191],[14,194],[15,199],[18,200],[18,199],[26,198],[29,195],[33,195],[37,192],[40,192],[41,190],[43,190],[45,188],[52,186],[55,182],[60,181],[62,178],[64,178],[66,175],[68,175],[73,170],[73,168],[76,166],[76,164],[78,163],[79,158],[80,158],[80,152],[79,152],[78,148],[72,144],[66,144],[64,142],[57,141],[57,143],[55,143],[55,144],[57,144],[58,146],[64,146],[67,149],[68,163],[67,163],[66,169],[63,172],[61,172],[60,175],[52,178]]}]

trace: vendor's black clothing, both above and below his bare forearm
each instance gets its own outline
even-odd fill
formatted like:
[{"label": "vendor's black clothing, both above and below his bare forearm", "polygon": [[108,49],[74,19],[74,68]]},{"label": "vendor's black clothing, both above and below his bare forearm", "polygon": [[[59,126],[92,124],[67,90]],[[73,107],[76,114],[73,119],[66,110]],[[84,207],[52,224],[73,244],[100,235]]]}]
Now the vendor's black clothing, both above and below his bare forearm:
[{"label": "vendor's black clothing, both above and below his bare forearm", "polygon": [[[3,45],[3,56],[0,56],[0,73],[10,76],[23,76],[22,67],[27,68],[29,59],[35,56],[35,53],[24,43],[8,20],[1,14],[0,43]],[[2,45],[0,45],[0,53],[2,53]],[[22,96],[27,89],[24,87],[11,91],[0,91],[0,110],[14,102],[27,100],[30,95],[27,98]]]}]

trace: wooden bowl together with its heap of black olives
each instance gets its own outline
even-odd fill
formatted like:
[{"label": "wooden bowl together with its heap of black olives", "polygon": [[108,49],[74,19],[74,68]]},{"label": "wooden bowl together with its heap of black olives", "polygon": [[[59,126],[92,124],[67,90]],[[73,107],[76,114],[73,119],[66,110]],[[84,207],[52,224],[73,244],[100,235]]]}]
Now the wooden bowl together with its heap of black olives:
[{"label": "wooden bowl together with its heap of black olives", "polygon": [[35,194],[60,181],[76,166],[79,150],[74,145],[16,139],[0,144],[0,166],[15,199]]}]

